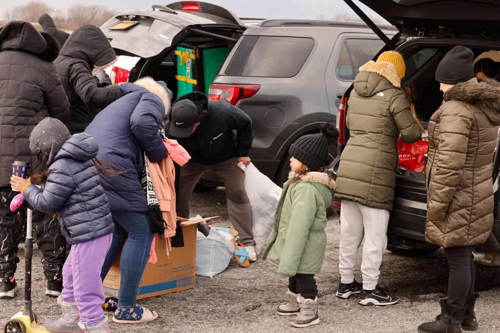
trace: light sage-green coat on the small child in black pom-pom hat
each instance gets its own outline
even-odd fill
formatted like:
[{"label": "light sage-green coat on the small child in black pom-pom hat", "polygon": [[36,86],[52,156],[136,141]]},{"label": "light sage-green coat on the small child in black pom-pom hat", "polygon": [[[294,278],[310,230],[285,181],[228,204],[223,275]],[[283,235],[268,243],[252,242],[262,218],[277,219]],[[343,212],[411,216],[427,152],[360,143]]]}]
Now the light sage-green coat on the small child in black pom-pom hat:
[{"label": "light sage-green coat on the small child in black pom-pom hat", "polygon": [[262,259],[285,276],[317,274],[326,248],[326,207],[335,182],[326,172],[290,172],[276,207]]}]

